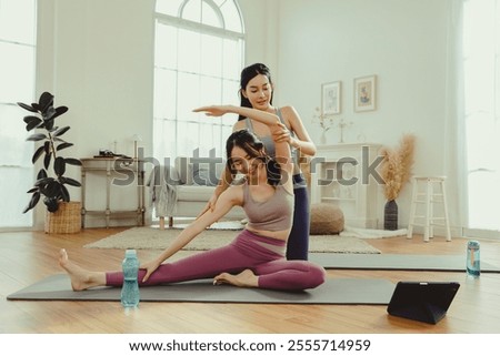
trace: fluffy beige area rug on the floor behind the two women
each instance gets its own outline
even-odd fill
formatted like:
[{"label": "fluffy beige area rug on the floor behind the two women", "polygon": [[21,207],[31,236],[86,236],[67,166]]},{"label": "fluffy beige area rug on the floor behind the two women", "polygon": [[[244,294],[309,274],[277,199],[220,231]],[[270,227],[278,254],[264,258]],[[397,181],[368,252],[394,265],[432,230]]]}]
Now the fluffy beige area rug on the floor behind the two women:
[{"label": "fluffy beige area rug on the floor behind the two women", "polygon": [[[134,248],[162,250],[180,233],[180,230],[159,230],[154,227],[132,227],[84,245],[87,248]],[[206,251],[229,244],[238,234],[236,231],[206,230],[183,250]],[[379,254],[380,250],[357,237],[339,235],[311,235],[309,251],[321,253]]]}]

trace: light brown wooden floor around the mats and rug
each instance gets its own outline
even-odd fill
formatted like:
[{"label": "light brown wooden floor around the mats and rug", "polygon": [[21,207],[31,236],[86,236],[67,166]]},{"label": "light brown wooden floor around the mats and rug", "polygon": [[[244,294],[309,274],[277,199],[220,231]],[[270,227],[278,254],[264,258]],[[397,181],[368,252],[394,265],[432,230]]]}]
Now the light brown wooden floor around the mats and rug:
[{"label": "light brown wooden floor around the mats and rug", "polygon": [[[456,281],[461,284],[447,317],[428,325],[388,316],[386,306],[367,305],[262,305],[210,303],[141,303],[124,313],[118,302],[13,302],[7,295],[62,271],[57,263],[66,247],[77,263],[92,269],[120,267],[123,251],[87,250],[87,243],[123,228],[91,228],[79,234],[56,235],[32,232],[0,233],[0,333],[500,333],[500,274],[328,271],[330,278],[359,277],[398,281]],[[434,237],[424,243],[390,237],[369,240],[382,253],[463,254],[467,240],[446,242]],[[139,251],[147,261],[158,252]],[[187,252],[180,252],[182,256]],[[481,240],[481,258],[500,265],[500,242]]]}]

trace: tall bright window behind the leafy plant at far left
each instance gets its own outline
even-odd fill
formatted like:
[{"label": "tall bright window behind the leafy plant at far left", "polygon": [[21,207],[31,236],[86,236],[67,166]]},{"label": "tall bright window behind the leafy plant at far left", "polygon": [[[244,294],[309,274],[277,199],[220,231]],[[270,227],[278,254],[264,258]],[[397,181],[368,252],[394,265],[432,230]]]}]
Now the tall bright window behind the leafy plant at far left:
[{"label": "tall bright window behind the leafy plant at far left", "polygon": [[22,214],[33,184],[33,145],[16,103],[34,96],[37,0],[0,1],[0,228],[32,225]]}]

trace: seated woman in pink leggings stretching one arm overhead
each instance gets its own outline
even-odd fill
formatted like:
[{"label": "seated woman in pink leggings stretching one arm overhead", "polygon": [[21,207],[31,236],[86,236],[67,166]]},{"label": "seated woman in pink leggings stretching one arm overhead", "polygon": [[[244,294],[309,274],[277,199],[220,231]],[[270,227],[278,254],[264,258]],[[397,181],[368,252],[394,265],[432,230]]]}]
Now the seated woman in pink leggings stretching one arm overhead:
[{"label": "seated woman in pink leggings stretching one arm overhead", "polygon": [[[241,287],[297,291],[314,288],[324,282],[324,268],[308,261],[287,261],[286,246],[293,214],[293,164],[289,144],[278,116],[264,111],[232,106],[204,106],[194,110],[209,116],[241,114],[267,124],[276,142],[276,155],[264,154],[263,144],[248,130],[233,132],[226,144],[228,167],[242,173],[241,184],[231,185],[217,201],[186,227],[158,258],[139,271],[141,286],[213,278],[213,284]],[[229,245],[164,263],[204,228],[240,205],[248,216],[247,227]],[[74,291],[96,286],[121,286],[122,272],[90,272],[68,260],[64,250],[60,265],[71,277]]]}]

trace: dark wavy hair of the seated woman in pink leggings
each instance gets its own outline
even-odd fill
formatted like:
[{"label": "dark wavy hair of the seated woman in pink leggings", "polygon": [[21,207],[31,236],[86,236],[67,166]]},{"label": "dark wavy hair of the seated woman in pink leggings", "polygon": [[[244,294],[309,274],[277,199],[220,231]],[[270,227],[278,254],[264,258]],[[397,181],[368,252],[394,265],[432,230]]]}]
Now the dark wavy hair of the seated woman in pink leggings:
[{"label": "dark wavy hair of the seated woman in pink leggings", "polygon": [[234,177],[238,173],[231,160],[232,149],[238,146],[242,149],[252,159],[260,159],[266,163],[266,172],[268,174],[268,184],[277,186],[281,182],[280,164],[271,156],[266,154],[264,145],[252,132],[247,129],[234,131],[226,141],[226,154],[228,161],[226,162],[229,172]]}]

